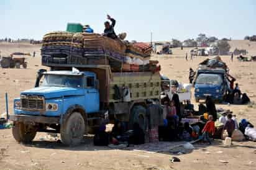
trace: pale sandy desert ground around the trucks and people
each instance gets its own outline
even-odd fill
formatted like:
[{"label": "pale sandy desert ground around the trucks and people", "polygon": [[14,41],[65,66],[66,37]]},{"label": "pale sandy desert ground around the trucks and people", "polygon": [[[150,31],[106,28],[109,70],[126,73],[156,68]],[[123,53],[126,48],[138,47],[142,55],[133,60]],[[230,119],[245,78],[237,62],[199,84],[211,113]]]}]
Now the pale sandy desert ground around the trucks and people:
[{"label": "pale sandy desert ground around the trucks and people", "polygon": [[[244,40],[232,40],[231,49],[247,49],[249,55],[256,55],[256,43]],[[250,46],[248,45],[250,43]],[[14,51],[36,51],[36,56],[27,56],[27,69],[0,68],[0,113],[5,112],[4,94],[9,94],[9,108],[12,113],[12,101],[19,92],[30,89],[35,83],[35,73],[40,66],[40,46],[26,44],[0,43],[1,55],[9,55]],[[162,74],[171,79],[188,83],[188,69],[196,69],[203,56],[185,61],[185,53],[190,48],[173,49],[173,55],[153,56],[162,65]],[[232,62],[230,56],[222,56],[235,76],[242,92],[247,92],[252,101],[256,101],[256,62]],[[198,104],[195,104],[196,106]],[[256,125],[256,106],[224,105],[217,107],[231,109],[237,118],[249,119]],[[176,143],[165,143],[166,151],[160,153],[147,150],[112,150],[107,147],[95,147],[91,137],[85,143],[75,148],[67,148],[48,139],[46,133],[38,133],[32,145],[20,145],[12,137],[10,129],[0,130],[0,169],[256,169],[256,143],[252,141],[234,142],[231,147],[225,147],[221,140],[215,140],[213,145],[194,145],[195,150],[181,154],[180,163],[171,163],[173,156],[168,147]],[[162,145],[162,144],[159,144]],[[227,161],[221,163],[219,160]]]}]

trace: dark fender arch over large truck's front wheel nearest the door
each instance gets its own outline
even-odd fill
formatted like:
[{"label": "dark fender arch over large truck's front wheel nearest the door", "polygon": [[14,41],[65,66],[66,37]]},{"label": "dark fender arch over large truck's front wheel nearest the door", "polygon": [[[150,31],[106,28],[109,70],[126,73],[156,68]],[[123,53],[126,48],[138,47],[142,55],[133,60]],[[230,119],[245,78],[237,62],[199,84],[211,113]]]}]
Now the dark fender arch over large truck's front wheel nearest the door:
[{"label": "dark fender arch over large truck's front wheel nearest the door", "polygon": [[75,105],[71,105],[70,107],[68,107],[68,109],[66,110],[65,114],[63,115],[60,123],[61,124],[65,123],[66,120],[68,119],[68,117],[70,117],[70,115],[73,114],[73,112],[81,113],[81,115],[83,116],[83,119],[85,119],[85,127],[86,127],[85,132],[87,132],[88,122],[87,122],[86,110],[81,105],[75,104]]}]

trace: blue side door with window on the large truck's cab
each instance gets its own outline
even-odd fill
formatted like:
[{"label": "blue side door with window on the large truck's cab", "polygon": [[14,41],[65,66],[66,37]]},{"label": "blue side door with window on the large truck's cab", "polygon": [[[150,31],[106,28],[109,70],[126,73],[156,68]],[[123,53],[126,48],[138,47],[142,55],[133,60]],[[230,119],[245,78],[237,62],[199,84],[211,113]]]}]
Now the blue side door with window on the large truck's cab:
[{"label": "blue side door with window on the large truck's cab", "polygon": [[85,77],[85,108],[86,113],[99,112],[99,92],[93,75]]}]

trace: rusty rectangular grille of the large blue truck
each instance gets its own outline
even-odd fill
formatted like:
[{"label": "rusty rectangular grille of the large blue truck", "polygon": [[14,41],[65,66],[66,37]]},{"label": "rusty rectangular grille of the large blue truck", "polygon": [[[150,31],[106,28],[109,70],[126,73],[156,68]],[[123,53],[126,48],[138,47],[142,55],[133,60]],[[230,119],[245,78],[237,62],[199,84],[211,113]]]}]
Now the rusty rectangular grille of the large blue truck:
[{"label": "rusty rectangular grille of the large blue truck", "polygon": [[44,110],[45,99],[42,96],[21,96],[21,109],[23,110]]}]

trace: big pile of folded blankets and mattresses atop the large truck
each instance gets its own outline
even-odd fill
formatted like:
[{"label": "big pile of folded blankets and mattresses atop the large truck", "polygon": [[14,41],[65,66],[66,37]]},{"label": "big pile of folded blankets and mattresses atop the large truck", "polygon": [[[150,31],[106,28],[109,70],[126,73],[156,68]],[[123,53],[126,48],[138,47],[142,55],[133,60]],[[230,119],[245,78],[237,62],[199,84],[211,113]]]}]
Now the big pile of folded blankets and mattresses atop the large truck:
[{"label": "big pile of folded blankets and mattresses atop the large truck", "polygon": [[113,40],[99,34],[50,32],[43,37],[42,65],[110,65],[112,71],[158,71],[147,43]]}]

